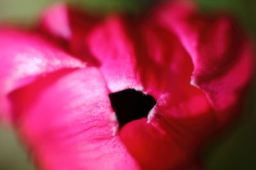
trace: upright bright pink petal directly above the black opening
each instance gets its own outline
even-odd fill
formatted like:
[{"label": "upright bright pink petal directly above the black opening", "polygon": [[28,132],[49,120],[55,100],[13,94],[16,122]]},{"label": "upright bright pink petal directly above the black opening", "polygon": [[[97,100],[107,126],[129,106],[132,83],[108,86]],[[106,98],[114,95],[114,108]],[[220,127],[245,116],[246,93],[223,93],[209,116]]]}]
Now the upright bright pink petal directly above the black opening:
[{"label": "upright bright pink petal directly above the black opening", "polygon": [[136,55],[121,18],[109,17],[88,35],[86,44],[100,62],[100,71],[111,92],[124,89],[142,90],[136,74]]}]

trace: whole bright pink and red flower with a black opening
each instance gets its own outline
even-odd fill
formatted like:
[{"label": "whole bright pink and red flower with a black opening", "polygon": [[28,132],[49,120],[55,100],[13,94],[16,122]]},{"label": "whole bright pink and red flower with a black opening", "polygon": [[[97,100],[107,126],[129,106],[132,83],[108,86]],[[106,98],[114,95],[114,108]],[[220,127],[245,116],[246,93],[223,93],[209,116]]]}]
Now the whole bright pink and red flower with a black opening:
[{"label": "whole bright pink and red flower with a black opening", "polygon": [[253,73],[232,19],[188,1],[143,19],[56,4],[39,25],[0,30],[0,108],[40,169],[200,169]]}]

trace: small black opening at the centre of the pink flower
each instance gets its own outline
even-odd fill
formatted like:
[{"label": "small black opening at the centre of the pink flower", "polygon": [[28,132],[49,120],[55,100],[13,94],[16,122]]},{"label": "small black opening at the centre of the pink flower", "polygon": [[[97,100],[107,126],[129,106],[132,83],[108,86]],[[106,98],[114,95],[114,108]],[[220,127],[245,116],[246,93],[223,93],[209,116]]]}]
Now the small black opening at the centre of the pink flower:
[{"label": "small black opening at the centre of the pink flower", "polygon": [[147,117],[156,105],[154,97],[134,89],[109,94],[111,106],[116,113],[119,128],[139,118]]}]

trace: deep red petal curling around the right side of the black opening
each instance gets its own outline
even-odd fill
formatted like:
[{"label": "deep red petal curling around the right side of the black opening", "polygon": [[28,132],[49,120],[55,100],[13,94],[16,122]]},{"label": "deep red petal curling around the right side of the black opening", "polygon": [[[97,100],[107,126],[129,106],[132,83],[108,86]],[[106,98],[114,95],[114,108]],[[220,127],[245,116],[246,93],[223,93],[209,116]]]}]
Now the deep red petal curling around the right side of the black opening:
[{"label": "deep red petal curling around the right side of the black opening", "polygon": [[219,129],[216,116],[205,94],[189,83],[193,63],[179,39],[154,22],[140,30],[137,70],[157,105],[147,120],[124,125],[122,141],[143,169],[188,169],[198,147]]}]

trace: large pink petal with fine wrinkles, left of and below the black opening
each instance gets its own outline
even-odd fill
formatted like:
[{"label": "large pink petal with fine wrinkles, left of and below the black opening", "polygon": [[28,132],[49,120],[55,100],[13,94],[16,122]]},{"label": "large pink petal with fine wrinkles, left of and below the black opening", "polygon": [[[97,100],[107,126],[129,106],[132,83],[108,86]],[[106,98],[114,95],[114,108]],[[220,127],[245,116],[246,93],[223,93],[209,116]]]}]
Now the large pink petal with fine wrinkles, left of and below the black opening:
[{"label": "large pink petal with fine wrinkles, left of and below the black opening", "polygon": [[[108,89],[97,69],[46,78],[13,92],[28,101],[16,126],[42,169],[139,169],[116,135]],[[55,81],[38,89],[44,82]]]}]

